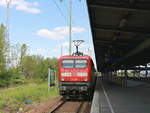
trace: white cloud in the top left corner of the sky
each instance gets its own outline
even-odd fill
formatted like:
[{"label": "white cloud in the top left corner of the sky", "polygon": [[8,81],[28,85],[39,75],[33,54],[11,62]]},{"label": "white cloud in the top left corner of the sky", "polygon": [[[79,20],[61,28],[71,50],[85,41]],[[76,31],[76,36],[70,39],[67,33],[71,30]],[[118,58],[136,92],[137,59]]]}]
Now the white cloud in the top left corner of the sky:
[{"label": "white cloud in the top left corner of the sky", "polygon": [[[16,10],[38,14],[41,12],[38,2],[27,2],[26,0],[8,0],[11,1],[11,7],[15,7]],[[0,6],[6,7],[6,0],[0,1]]]}]

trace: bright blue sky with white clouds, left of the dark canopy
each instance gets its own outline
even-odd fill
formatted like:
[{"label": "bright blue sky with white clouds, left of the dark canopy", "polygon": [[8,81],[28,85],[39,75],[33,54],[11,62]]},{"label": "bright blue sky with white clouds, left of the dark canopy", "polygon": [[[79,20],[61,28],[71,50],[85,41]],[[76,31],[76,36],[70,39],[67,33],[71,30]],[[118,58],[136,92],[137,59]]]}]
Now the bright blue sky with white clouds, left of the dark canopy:
[{"label": "bright blue sky with white clouds, left of the dark canopy", "polygon": [[[27,44],[30,54],[45,57],[59,57],[63,45],[63,55],[68,53],[68,18],[69,0],[12,0],[10,9],[10,42]],[[94,57],[92,36],[86,0],[72,0],[73,40],[85,40],[81,51]],[[0,1],[0,23],[6,21],[5,0]]]}]

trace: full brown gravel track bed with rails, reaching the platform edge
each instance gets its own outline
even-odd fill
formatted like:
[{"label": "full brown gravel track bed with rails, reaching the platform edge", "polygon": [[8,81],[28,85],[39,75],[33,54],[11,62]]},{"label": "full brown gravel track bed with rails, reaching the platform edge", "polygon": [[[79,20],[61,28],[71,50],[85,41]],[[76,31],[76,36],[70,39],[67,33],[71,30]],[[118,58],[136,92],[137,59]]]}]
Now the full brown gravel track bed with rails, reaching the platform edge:
[{"label": "full brown gravel track bed with rails, reaching the platform edge", "polygon": [[58,97],[26,113],[90,113],[90,109],[90,101],[64,101],[63,97]]}]

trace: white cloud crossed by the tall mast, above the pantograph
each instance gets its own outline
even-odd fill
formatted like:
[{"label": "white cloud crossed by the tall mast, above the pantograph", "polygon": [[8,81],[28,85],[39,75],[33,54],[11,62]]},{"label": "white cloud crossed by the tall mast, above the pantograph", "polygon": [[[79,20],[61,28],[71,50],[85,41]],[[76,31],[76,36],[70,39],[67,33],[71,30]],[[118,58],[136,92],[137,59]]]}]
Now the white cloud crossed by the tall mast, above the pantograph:
[{"label": "white cloud crossed by the tall mast, above the pantograph", "polygon": [[[81,27],[72,27],[72,33],[82,33],[86,30]],[[62,40],[69,34],[68,27],[56,27],[53,30],[41,29],[37,32],[37,35],[44,38],[50,38],[53,40]]]}]

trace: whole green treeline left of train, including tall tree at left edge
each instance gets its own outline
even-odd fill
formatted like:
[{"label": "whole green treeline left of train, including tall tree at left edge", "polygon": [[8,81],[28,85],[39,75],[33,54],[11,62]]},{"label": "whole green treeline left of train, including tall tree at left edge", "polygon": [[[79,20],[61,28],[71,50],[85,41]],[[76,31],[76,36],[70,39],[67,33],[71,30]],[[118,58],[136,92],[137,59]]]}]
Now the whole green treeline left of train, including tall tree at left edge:
[{"label": "whole green treeline left of train, including tall tree at left edge", "polygon": [[[0,87],[28,83],[27,79],[35,79],[36,82],[41,83],[47,80],[48,68],[52,68],[58,72],[57,58],[28,55],[28,46],[26,44],[11,45],[9,46],[9,50],[10,51],[8,51],[8,44],[5,40],[5,27],[1,24]],[[8,52],[9,57],[7,56]]]}]

